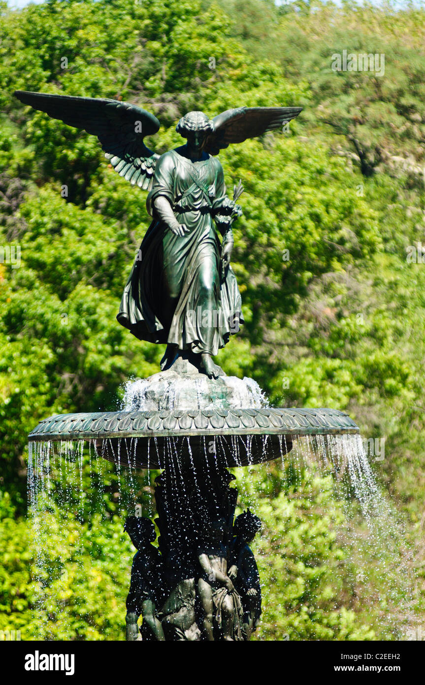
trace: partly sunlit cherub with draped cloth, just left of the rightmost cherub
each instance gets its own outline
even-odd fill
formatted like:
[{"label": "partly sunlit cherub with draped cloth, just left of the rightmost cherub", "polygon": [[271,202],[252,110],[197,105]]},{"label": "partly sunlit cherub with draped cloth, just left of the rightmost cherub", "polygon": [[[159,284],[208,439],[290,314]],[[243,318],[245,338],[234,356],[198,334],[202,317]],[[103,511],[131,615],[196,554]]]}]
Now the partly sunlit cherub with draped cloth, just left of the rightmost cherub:
[{"label": "partly sunlit cherub with draped cloth, just left of the rightmost cherub", "polygon": [[225,527],[224,519],[206,526],[203,544],[198,549],[198,596],[207,640],[214,640],[214,628],[224,640],[242,640],[240,597],[227,575],[229,545],[224,543]]}]

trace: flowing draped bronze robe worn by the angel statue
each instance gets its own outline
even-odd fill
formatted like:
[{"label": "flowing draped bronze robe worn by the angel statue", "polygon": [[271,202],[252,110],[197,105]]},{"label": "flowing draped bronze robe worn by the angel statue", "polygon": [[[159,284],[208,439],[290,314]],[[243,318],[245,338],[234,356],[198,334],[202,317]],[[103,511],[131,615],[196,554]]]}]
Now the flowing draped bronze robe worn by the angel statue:
[{"label": "flowing draped bronze robe worn by the angel statue", "polygon": [[[157,197],[166,197],[177,221],[188,227],[184,236],[159,219]],[[153,221],[117,316],[140,340],[215,355],[237,333],[243,323],[240,292],[231,266],[221,277],[221,246],[213,223],[226,198],[217,158],[191,162],[172,150],[157,161],[146,201]]]}]

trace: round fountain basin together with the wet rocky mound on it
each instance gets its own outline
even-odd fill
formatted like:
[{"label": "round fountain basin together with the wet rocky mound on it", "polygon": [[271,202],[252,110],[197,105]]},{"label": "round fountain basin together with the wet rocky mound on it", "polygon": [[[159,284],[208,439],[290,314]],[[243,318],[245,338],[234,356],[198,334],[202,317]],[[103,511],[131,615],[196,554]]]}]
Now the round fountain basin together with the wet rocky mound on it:
[{"label": "round fountain basin together with the wet rocky mound on it", "polygon": [[124,411],[56,414],[29,440],[88,440],[101,456],[142,469],[228,466],[283,456],[296,436],[359,433],[337,409],[274,408],[251,378],[208,378],[179,357],[166,371],[129,382]]}]

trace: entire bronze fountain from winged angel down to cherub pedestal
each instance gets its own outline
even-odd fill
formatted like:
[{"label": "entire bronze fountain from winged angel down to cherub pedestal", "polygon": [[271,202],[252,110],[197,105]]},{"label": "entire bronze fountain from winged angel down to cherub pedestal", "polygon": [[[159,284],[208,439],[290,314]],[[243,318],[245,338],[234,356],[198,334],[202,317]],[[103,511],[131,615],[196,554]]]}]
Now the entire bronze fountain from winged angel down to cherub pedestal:
[{"label": "entire bronze fountain from winged angel down to cherub pedestal", "polygon": [[[118,173],[151,188],[153,222],[117,319],[136,337],[167,345],[162,371],[129,385],[123,410],[57,414],[31,431],[31,502],[37,510],[43,487],[49,490],[55,454],[76,455],[81,478],[85,444],[97,458],[127,469],[130,478],[138,469],[161,470],[155,482],[157,547],[151,518],[136,514],[125,521],[138,549],[127,597],[127,639],[248,640],[261,614],[261,585],[249,547],[261,521],[250,510],[235,518],[238,493],[228,469],[286,458],[298,440],[308,438],[336,473],[347,460],[353,482],[361,471],[359,427],[347,414],[270,407],[252,379],[227,377],[212,359],[243,323],[229,264],[231,227],[242,214],[235,201],[243,188],[235,186],[233,200],[227,197],[213,155],[231,142],[281,127],[300,108],[237,108],[212,121],[190,112],[177,126],[186,145],[159,157],[143,142],[159,122],[136,105],[16,95],[96,134]],[[135,121],[142,124],[140,132]],[[222,233],[221,245],[211,219]]]}]

